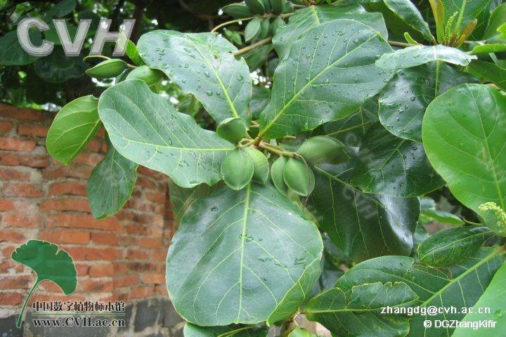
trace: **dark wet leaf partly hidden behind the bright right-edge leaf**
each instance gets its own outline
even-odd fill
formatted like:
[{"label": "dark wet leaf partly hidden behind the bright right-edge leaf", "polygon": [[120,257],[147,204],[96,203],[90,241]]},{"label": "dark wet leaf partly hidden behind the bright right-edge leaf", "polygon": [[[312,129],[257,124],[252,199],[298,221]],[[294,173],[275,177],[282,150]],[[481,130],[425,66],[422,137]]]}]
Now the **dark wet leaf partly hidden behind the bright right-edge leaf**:
[{"label": "dark wet leaf partly hidden behind the bright right-edge leaf", "polygon": [[399,71],[380,98],[380,121],[397,137],[422,142],[422,119],[434,98],[475,79],[443,62]]}]

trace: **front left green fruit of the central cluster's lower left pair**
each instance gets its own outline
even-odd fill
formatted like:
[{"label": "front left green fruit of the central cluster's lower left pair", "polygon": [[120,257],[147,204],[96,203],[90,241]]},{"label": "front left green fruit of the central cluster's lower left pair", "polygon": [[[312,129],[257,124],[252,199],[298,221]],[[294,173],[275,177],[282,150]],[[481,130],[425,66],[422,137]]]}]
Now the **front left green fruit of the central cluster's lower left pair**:
[{"label": "front left green fruit of the central cluster's lower left pair", "polygon": [[249,156],[241,149],[232,150],[221,161],[221,176],[232,190],[241,190],[252,180],[254,166]]}]

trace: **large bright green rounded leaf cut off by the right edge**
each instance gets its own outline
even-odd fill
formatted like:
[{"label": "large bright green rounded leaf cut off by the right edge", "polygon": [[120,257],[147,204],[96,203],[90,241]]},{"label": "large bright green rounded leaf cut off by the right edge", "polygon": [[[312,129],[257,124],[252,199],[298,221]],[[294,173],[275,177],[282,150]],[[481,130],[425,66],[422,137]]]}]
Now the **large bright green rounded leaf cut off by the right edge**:
[{"label": "large bright green rounded leaf cut off by the right edge", "polygon": [[427,156],[462,204],[479,213],[488,227],[486,202],[506,209],[506,98],[482,84],[464,84],[443,93],[427,107],[422,125]]}]

